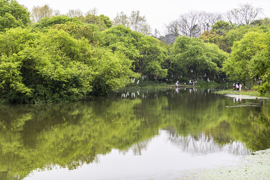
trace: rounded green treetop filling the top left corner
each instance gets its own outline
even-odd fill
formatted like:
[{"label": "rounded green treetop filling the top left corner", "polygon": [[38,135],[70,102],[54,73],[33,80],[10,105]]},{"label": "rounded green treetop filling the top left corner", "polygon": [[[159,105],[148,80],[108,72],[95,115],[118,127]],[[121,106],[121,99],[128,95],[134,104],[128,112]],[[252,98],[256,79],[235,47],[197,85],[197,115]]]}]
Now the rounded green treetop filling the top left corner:
[{"label": "rounded green treetop filling the top left corner", "polygon": [[25,27],[29,23],[29,12],[16,0],[0,0],[0,31],[17,26]]}]

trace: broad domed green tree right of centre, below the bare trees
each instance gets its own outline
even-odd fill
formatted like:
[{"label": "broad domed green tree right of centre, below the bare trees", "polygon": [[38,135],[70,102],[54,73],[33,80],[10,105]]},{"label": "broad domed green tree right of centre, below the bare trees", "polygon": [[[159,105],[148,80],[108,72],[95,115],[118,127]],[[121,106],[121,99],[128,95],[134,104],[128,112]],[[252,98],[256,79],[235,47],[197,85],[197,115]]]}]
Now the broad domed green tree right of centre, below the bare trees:
[{"label": "broad domed green tree right of centre, below the bare trees", "polygon": [[172,45],[172,63],[182,69],[189,79],[219,74],[227,54],[216,45],[203,43],[198,38],[177,37]]}]

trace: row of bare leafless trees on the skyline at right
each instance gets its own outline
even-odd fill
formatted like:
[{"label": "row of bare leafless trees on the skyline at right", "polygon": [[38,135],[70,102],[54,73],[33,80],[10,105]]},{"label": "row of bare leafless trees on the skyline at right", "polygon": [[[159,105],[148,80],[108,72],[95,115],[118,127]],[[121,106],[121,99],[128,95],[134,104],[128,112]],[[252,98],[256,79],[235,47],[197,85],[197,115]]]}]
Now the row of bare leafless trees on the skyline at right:
[{"label": "row of bare leafless trees on the skyline at right", "polygon": [[234,26],[248,25],[256,20],[263,12],[260,7],[252,4],[239,4],[225,13],[189,11],[180,14],[178,18],[165,24],[166,34],[185,35],[187,37],[199,37],[203,31],[209,31],[212,25],[219,20],[227,21]]}]

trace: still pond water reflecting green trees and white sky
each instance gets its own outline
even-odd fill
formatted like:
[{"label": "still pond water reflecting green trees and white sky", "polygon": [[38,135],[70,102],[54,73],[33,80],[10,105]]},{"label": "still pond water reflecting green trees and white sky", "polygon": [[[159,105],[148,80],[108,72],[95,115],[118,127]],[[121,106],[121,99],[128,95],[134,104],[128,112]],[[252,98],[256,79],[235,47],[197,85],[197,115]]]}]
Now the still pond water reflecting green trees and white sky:
[{"label": "still pond water reflecting green trees and white sky", "polygon": [[173,179],[270,147],[269,99],[130,90],[0,106],[0,179]]}]

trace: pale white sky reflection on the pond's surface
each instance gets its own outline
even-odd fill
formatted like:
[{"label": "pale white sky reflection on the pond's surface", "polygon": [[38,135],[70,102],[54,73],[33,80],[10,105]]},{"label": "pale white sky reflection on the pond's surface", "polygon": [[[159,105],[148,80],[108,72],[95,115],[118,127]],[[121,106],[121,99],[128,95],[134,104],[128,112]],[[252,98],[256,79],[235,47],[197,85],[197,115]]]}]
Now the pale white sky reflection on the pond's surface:
[{"label": "pale white sky reflection on the pond's surface", "polygon": [[181,137],[171,130],[160,130],[151,139],[124,151],[112,149],[97,155],[95,162],[77,169],[54,166],[52,170],[35,170],[25,179],[170,179],[184,170],[237,164],[240,156],[235,154],[248,154],[248,150],[240,142],[221,146],[204,134]]}]

